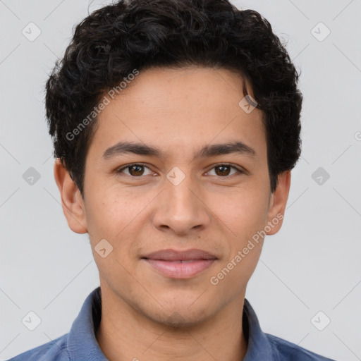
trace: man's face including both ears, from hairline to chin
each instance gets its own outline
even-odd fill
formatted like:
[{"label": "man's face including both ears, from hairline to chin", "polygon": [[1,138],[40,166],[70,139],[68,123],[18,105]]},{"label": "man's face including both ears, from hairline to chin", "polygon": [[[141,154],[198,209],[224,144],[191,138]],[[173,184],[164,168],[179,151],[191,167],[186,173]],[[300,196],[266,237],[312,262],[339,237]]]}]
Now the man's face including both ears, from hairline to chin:
[{"label": "man's face including both ears, from hairline to chin", "polygon": [[[271,194],[262,113],[238,105],[242,84],[221,69],[140,72],[99,114],[84,199],[56,171],[69,226],[90,235],[102,289],[154,322],[197,324],[243,301],[262,249],[257,231],[281,227],[289,172]],[[147,259],[195,249],[209,259]]]}]

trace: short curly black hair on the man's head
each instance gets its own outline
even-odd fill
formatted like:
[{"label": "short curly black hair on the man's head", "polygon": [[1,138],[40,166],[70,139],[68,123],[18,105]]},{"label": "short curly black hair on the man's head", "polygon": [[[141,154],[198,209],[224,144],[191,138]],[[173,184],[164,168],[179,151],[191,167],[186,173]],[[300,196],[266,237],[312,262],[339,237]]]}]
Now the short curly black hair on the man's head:
[{"label": "short curly black hair on the man's head", "polygon": [[80,121],[134,69],[192,65],[225,68],[249,82],[263,114],[270,188],[276,190],[279,174],[293,169],[300,157],[302,94],[300,74],[268,20],[228,0],[120,0],[75,27],[46,84],[54,157],[82,197],[97,117],[74,136]]}]

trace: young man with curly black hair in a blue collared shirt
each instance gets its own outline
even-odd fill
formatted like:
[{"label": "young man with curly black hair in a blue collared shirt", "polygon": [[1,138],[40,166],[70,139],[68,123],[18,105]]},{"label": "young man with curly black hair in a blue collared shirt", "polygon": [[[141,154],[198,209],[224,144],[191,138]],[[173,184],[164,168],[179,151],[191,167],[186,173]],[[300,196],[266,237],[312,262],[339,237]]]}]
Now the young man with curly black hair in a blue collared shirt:
[{"label": "young man with curly black hair in a blue collared shirt", "polygon": [[227,0],[130,0],[82,20],[47,82],[54,176],[100,288],[12,360],[329,360],[264,334],[245,290],[300,157],[298,73]]}]

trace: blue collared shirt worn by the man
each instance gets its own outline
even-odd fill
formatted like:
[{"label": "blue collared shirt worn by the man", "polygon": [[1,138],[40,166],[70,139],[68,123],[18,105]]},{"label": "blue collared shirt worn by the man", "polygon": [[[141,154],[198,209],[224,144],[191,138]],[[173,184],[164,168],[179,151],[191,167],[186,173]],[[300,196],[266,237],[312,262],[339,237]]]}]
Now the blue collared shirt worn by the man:
[{"label": "blue collared shirt worn by the man", "polygon": [[[71,331],[54,341],[11,358],[8,361],[106,361],[95,330],[102,316],[100,287],[87,296]],[[294,343],[262,332],[255,311],[245,299],[243,329],[247,354],[243,361],[334,361],[312,353]]]}]

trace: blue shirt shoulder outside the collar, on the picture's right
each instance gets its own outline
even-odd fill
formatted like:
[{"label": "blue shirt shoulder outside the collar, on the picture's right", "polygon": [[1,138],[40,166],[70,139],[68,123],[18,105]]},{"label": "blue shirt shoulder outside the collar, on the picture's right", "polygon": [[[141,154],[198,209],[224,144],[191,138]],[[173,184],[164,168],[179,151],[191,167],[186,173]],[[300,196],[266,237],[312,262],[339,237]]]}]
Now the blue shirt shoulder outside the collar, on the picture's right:
[{"label": "blue shirt shoulder outside the collar, on the picture's right", "polygon": [[265,334],[280,361],[335,361],[270,334]]}]

